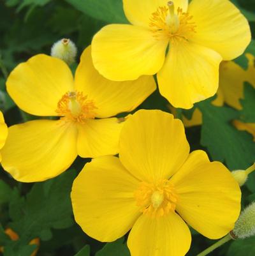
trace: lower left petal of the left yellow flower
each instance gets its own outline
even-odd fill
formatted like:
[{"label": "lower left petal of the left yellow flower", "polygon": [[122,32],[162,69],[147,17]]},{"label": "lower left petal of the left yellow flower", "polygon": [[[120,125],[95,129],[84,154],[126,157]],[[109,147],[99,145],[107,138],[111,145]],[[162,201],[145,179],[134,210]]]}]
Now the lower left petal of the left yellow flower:
[{"label": "lower left petal of the left yellow flower", "polygon": [[55,177],[77,157],[77,128],[62,121],[36,120],[9,128],[2,165],[14,179],[44,181]]}]

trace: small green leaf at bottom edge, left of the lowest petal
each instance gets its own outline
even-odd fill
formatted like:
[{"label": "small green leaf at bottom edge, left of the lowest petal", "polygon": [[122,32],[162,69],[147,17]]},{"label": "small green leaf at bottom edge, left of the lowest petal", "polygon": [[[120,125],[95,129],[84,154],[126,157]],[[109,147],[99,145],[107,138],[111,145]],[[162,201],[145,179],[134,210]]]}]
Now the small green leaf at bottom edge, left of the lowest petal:
[{"label": "small green leaf at bottom edge, left of the lowest petal", "polygon": [[113,243],[107,243],[102,250],[96,253],[96,256],[130,256],[124,238],[120,238]]}]

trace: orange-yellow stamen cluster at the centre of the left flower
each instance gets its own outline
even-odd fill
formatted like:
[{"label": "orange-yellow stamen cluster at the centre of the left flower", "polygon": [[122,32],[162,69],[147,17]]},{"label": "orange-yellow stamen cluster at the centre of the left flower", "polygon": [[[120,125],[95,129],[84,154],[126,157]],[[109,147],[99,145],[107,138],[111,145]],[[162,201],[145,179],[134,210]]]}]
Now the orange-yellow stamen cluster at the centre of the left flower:
[{"label": "orange-yellow stamen cluster at the centre of the left flower", "polygon": [[57,103],[57,114],[66,121],[76,121],[84,123],[86,119],[96,116],[94,110],[97,109],[91,100],[87,100],[82,92],[71,91],[64,94]]}]

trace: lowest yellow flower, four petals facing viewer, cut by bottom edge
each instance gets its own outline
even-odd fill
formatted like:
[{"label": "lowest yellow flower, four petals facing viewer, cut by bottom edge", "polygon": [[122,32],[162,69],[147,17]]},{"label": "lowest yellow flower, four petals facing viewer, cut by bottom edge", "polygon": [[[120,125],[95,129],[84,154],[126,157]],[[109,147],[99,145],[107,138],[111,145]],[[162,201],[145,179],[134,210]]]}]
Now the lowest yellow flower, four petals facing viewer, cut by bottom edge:
[{"label": "lowest yellow flower, four petals facing viewer, cut by bottom edge", "polygon": [[[120,133],[119,158],[87,163],[73,183],[75,220],[99,241],[128,230],[132,256],[182,256],[191,225],[217,239],[234,227],[240,188],[222,163],[189,153],[184,126],[160,110],[139,110]],[[187,223],[187,224],[186,224]]]}]

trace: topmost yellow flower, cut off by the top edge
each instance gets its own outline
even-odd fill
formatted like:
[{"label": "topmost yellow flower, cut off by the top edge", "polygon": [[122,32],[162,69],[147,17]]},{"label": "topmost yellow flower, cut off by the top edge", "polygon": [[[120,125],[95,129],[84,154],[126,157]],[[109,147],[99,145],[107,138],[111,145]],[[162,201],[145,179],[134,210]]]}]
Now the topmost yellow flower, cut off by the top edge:
[{"label": "topmost yellow flower, cut off by the top edge", "polygon": [[110,80],[157,73],[159,91],[174,107],[190,109],[213,96],[219,63],[240,56],[251,41],[249,23],[228,0],[123,0],[123,6],[132,25],[108,25],[94,36],[94,66]]}]

